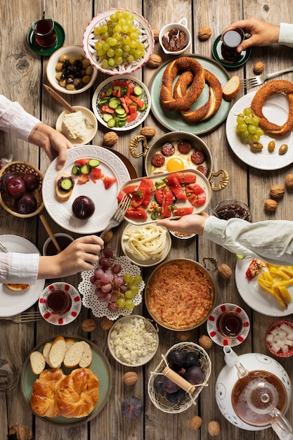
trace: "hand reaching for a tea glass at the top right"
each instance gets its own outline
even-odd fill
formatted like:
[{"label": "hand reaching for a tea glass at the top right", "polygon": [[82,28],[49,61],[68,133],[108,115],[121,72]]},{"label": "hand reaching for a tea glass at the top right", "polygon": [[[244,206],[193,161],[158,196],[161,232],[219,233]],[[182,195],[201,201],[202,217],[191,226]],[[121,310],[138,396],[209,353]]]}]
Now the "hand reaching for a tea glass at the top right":
[{"label": "hand reaching for a tea glass at the top right", "polygon": [[[250,17],[247,20],[238,20],[233,22],[229,27],[223,30],[223,34],[227,30],[240,27],[245,34],[250,37],[243,40],[242,44],[237,47],[237,52],[246,51],[251,46],[270,46],[273,43],[278,43],[280,27],[271,25],[258,18]],[[222,34],[222,35],[223,35]]]}]

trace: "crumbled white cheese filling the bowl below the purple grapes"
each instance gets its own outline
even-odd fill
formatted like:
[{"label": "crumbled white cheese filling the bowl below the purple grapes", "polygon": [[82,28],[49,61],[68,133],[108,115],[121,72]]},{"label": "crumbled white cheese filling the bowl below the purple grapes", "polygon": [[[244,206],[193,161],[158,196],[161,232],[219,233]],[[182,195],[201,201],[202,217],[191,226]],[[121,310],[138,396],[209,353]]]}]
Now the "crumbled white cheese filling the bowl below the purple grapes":
[{"label": "crumbled white cheese filling the bowl below the purple grapes", "polygon": [[117,322],[109,343],[117,358],[124,358],[124,361],[134,365],[155,351],[157,335],[148,332],[143,318],[133,318],[129,322]]}]

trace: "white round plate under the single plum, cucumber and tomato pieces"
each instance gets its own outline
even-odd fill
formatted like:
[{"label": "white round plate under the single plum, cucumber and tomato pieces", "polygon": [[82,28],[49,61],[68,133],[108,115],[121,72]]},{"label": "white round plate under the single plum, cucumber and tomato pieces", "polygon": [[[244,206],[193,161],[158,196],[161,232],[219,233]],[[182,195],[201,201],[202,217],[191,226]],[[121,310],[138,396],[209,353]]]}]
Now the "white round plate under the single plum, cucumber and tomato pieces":
[{"label": "white round plate under the single plum, cucumber and tomato pieces", "polygon": [[[124,163],[112,151],[96,145],[83,145],[67,151],[67,160],[63,172],[71,174],[74,161],[87,157],[100,160],[100,169],[105,176],[115,177],[116,182],[105,190],[103,181],[89,181],[84,185],[74,184],[73,193],[67,202],[59,202],[56,196],[56,159],[51,162],[44,176],[42,195],[44,205],[51,218],[59,226],[79,234],[91,234],[103,231],[117,208],[119,188],[129,180],[129,172]],[[72,202],[79,195],[87,195],[96,205],[94,214],[86,220],[77,219],[72,213]]]}]

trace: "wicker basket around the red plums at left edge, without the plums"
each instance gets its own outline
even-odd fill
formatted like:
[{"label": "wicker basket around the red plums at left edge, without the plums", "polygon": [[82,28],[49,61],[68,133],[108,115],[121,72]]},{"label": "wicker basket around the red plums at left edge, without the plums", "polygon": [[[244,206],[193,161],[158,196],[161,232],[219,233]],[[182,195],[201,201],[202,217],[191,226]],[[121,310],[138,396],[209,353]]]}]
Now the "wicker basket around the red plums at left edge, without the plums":
[{"label": "wicker basket around the red plums at left edge, without the plums", "polygon": [[37,187],[36,190],[32,191],[32,195],[34,195],[34,197],[37,200],[37,209],[36,211],[32,212],[32,214],[18,214],[18,212],[15,212],[15,209],[13,207],[14,199],[10,198],[6,193],[6,191],[1,188],[0,203],[4,207],[4,209],[6,209],[6,211],[9,212],[10,214],[16,217],[20,217],[22,219],[27,219],[29,217],[33,217],[39,214],[39,212],[41,212],[41,210],[44,208],[43,199],[41,197],[41,186],[43,183],[44,176],[41,174],[39,169],[34,167],[34,165],[32,164],[27,164],[27,162],[18,162],[18,161],[9,162],[8,164],[4,165],[3,168],[1,168],[0,183],[3,176],[7,173],[14,173],[16,174],[16,176],[20,176],[20,177],[23,174],[27,174],[27,173],[35,174],[39,178],[39,186]]}]

